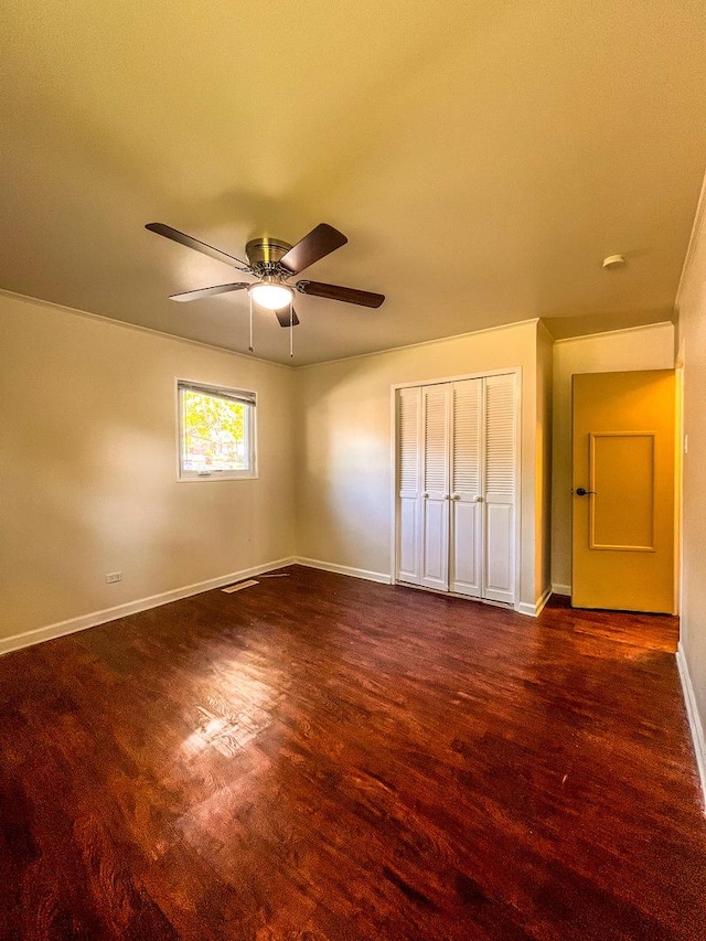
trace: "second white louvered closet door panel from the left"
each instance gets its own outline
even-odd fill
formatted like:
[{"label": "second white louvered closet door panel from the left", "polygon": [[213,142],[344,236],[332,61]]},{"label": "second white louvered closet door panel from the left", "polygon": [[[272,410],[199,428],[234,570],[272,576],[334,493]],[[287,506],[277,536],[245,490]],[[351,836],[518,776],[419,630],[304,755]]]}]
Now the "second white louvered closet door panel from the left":
[{"label": "second white louvered closet door panel from the left", "polygon": [[449,589],[450,386],[422,386],[422,535],[420,585]]}]

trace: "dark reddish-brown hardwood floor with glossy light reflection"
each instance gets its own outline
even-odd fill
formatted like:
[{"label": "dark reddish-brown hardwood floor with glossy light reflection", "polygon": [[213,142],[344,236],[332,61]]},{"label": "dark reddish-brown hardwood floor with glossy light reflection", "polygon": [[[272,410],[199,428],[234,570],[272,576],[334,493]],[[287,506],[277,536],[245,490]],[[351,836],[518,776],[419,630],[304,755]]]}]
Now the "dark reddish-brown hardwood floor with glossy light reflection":
[{"label": "dark reddish-brown hardwood floor with glossy light reflection", "polygon": [[0,938],[706,938],[673,618],[292,567],[0,660]]}]

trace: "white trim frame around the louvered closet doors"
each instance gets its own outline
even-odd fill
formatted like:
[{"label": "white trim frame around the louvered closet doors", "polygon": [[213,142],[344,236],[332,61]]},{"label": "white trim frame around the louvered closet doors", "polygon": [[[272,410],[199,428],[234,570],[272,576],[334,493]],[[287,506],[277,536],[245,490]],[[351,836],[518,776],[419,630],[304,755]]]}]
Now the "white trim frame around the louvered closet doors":
[{"label": "white trim frame around the louvered closet doors", "polygon": [[[398,468],[398,434],[397,434],[397,394],[399,389],[403,388],[414,388],[417,386],[429,386],[429,385],[443,385],[445,383],[458,383],[463,382],[464,379],[483,379],[489,376],[514,376],[514,397],[515,397],[515,459],[516,459],[516,473],[515,473],[515,518],[514,518],[514,530],[515,530],[515,600],[513,602],[513,609],[515,611],[520,610],[520,584],[522,577],[522,367],[514,366],[505,370],[483,370],[478,373],[466,373],[463,375],[456,376],[446,376],[445,378],[425,378],[417,379],[415,382],[408,383],[395,383],[391,386],[391,467],[392,467],[392,481],[391,481],[391,582],[392,585],[410,585],[410,582],[402,581],[397,578],[397,553],[398,553],[398,541],[399,541],[399,513],[398,513],[398,486],[397,486],[397,474],[399,471]],[[413,586],[414,587],[414,586]],[[427,591],[431,591],[434,589],[425,588]],[[467,595],[457,595],[452,591],[443,591],[445,595],[450,595],[454,598],[469,598]],[[484,598],[474,599],[479,601],[486,601]],[[494,601],[488,601],[488,603],[499,603]]]}]

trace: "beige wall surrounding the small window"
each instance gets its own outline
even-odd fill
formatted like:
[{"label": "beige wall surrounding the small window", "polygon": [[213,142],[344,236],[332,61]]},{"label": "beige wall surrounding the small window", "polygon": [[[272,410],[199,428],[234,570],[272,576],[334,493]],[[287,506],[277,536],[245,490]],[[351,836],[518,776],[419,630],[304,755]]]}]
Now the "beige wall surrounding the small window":
[{"label": "beige wall surrounding the small window", "polygon": [[[0,638],[293,555],[291,370],[7,295],[0,331]],[[176,481],[176,377],[258,393],[258,480]]]}]

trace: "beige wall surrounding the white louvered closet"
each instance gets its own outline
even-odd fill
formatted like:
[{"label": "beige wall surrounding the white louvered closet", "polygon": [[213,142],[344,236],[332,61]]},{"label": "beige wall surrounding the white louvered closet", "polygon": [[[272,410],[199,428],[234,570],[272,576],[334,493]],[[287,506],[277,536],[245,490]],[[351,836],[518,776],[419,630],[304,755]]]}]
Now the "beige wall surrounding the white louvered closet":
[{"label": "beige wall surrounding the white louvered closet", "polygon": [[534,605],[536,321],[298,371],[298,555],[392,574],[392,387],[522,368],[521,601]]}]

